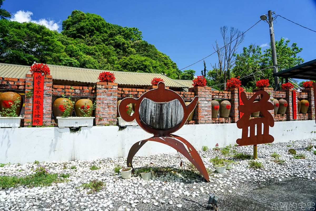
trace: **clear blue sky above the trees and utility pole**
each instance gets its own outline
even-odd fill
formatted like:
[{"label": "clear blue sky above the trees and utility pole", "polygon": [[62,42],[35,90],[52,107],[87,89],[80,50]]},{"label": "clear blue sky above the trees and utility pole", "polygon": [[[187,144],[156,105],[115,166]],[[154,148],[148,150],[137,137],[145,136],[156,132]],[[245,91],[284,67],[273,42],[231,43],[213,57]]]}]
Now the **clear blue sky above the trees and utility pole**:
[{"label": "clear blue sky above the trees and utility pole", "polygon": [[[316,0],[302,1],[45,1],[5,0],[3,9],[16,14],[17,19],[32,20],[61,31],[62,21],[77,9],[103,17],[106,22],[137,27],[143,40],[154,44],[177,63],[179,69],[197,62],[214,52],[212,44],[222,44],[221,26],[246,31],[268,10],[316,31]],[[27,12],[29,11],[29,12]],[[33,15],[32,15],[33,14]],[[59,28],[58,28],[59,27]],[[277,17],[275,39],[281,37],[296,42],[303,51],[298,54],[305,62],[316,59],[316,33]],[[259,22],[245,34],[242,47],[270,42],[269,24]],[[216,55],[205,59],[207,69],[217,62]],[[200,74],[203,61],[186,69]]]}]

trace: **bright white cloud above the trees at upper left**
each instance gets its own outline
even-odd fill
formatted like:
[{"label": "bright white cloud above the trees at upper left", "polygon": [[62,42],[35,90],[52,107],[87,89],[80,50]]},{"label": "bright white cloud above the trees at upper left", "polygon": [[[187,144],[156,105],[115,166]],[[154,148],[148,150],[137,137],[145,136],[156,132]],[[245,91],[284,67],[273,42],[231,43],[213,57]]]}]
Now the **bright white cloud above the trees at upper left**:
[{"label": "bright white cloud above the trees at upper left", "polygon": [[33,12],[30,11],[24,11],[24,10],[19,10],[15,14],[12,15],[13,18],[11,18],[11,21],[17,21],[17,22],[33,22],[37,24],[41,24],[49,28],[50,30],[57,30],[60,28],[59,22],[51,21],[51,20],[46,20],[44,18],[36,21],[32,20],[31,16],[33,16]]}]

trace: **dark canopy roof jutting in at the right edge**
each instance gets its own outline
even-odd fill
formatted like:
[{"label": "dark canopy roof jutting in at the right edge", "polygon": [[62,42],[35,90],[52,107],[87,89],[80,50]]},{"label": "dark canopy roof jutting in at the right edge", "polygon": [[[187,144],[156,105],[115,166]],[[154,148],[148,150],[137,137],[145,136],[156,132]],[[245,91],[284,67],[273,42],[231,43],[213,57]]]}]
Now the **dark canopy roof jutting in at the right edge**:
[{"label": "dark canopy roof jutting in at the right edge", "polygon": [[288,78],[316,80],[316,59],[273,73],[273,77],[285,78],[286,82],[288,81]]}]

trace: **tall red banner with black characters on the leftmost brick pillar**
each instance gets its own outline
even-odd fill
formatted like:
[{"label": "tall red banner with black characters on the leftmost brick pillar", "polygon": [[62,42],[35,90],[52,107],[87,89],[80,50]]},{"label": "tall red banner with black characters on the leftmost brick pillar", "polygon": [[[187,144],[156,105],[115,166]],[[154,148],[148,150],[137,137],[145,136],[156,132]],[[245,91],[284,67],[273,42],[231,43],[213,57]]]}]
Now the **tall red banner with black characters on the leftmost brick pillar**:
[{"label": "tall red banner with black characters on the leftmost brick pillar", "polygon": [[33,125],[43,125],[44,73],[34,72]]}]

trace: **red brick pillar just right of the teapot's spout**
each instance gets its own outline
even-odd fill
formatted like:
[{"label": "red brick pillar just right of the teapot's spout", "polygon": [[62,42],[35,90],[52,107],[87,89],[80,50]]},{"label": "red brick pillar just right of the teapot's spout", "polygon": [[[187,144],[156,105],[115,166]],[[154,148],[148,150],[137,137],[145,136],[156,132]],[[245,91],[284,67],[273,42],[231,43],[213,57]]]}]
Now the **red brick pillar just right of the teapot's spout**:
[{"label": "red brick pillar just right of the teapot's spout", "polygon": [[212,88],[197,86],[189,88],[189,92],[199,96],[192,120],[196,121],[196,124],[212,123]]}]

